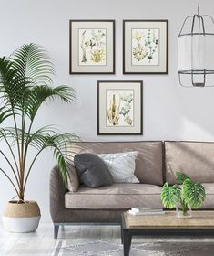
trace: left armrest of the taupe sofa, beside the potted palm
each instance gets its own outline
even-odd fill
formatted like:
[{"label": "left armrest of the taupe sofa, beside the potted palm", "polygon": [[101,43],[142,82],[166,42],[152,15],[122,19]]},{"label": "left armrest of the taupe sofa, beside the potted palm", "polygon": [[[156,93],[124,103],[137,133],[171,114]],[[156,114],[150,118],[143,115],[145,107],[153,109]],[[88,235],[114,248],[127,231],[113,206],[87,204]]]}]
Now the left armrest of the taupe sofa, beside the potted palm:
[{"label": "left armrest of the taupe sofa, beside the potted palm", "polygon": [[51,170],[50,174],[50,214],[53,222],[61,222],[65,211],[65,194],[67,188],[63,183],[58,166]]}]

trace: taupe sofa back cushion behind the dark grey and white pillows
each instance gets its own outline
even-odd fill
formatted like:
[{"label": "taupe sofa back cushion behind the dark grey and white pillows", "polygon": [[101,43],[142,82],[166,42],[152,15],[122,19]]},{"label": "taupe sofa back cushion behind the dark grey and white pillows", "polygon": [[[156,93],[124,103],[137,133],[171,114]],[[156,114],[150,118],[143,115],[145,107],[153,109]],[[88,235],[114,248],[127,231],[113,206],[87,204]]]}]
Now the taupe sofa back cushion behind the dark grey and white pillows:
[{"label": "taupe sofa back cushion behind the dark grey and white pillows", "polygon": [[66,144],[66,157],[83,152],[110,154],[138,151],[135,175],[141,183],[163,184],[162,142],[81,142]]}]

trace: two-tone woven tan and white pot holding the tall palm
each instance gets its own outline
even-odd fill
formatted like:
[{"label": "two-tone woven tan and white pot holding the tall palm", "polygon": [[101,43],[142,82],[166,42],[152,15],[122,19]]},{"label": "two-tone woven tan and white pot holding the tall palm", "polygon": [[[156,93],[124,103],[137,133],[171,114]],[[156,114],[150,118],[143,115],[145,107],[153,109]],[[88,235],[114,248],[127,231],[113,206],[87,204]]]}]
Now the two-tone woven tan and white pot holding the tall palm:
[{"label": "two-tone woven tan and white pot holding the tall palm", "polygon": [[40,209],[36,201],[9,201],[3,214],[3,224],[9,232],[34,232],[41,218]]}]

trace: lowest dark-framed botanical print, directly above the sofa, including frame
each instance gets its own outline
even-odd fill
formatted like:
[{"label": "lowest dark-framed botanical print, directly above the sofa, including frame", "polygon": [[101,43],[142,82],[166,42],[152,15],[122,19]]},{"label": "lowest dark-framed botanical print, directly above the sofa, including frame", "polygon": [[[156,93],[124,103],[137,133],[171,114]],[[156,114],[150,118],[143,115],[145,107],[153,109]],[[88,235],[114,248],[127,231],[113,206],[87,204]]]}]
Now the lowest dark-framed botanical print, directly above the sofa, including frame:
[{"label": "lowest dark-framed botanical print, directly above the sofa, including frame", "polygon": [[142,81],[97,82],[97,134],[142,134]]}]

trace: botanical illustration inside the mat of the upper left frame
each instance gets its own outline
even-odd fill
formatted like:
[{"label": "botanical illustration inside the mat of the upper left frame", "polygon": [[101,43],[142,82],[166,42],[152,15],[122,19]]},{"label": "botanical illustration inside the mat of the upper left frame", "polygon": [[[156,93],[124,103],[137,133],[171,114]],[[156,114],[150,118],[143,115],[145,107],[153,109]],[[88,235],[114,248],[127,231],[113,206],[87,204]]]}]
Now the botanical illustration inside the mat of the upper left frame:
[{"label": "botanical illustration inside the mat of the upper left frame", "polygon": [[78,29],[79,66],[103,66],[107,64],[106,29]]}]

